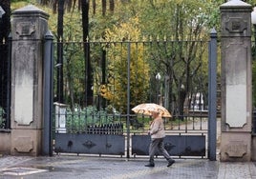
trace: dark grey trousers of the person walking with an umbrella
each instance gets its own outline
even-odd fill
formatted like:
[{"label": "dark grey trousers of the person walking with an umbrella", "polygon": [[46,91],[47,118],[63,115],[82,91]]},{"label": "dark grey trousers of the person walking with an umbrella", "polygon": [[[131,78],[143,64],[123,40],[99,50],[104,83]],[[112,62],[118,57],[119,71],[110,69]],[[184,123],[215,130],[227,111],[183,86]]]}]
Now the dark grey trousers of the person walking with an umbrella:
[{"label": "dark grey trousers of the person walking with an umbrella", "polygon": [[164,156],[164,158],[167,161],[172,160],[169,153],[166,151],[166,149],[164,149],[163,138],[151,139],[151,143],[149,146],[149,163],[150,164],[154,164],[154,156],[158,150],[161,152],[161,154]]}]

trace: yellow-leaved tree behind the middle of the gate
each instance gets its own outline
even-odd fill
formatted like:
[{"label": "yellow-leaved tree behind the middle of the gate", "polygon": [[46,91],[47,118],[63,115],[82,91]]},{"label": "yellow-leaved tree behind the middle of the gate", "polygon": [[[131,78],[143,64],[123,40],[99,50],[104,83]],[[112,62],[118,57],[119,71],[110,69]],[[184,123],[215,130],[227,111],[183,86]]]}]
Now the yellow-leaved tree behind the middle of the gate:
[{"label": "yellow-leaved tree behind the middle of the gate", "polygon": [[[108,47],[109,62],[108,69],[112,75],[101,92],[120,112],[127,109],[127,58],[130,56],[130,95],[131,105],[136,106],[145,102],[149,88],[149,64],[144,52],[143,43],[133,43],[140,37],[139,19],[131,18],[129,22],[114,26],[112,30],[106,30],[106,41],[117,41],[119,45],[112,44]],[[122,43],[123,42],[123,43]],[[130,50],[130,51],[129,51]],[[128,54],[130,52],[130,54]]]}]

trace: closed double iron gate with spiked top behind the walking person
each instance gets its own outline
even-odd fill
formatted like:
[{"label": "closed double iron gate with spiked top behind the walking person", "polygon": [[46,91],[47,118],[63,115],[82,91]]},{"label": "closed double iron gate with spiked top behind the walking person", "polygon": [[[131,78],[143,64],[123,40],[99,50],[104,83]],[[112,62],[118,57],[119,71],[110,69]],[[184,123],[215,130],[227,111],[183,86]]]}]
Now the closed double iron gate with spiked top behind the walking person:
[{"label": "closed double iron gate with spiked top behind the walking person", "polygon": [[211,41],[54,43],[54,151],[147,155],[151,118],[131,108],[153,102],[173,115],[164,118],[171,155],[215,158],[212,34]]}]

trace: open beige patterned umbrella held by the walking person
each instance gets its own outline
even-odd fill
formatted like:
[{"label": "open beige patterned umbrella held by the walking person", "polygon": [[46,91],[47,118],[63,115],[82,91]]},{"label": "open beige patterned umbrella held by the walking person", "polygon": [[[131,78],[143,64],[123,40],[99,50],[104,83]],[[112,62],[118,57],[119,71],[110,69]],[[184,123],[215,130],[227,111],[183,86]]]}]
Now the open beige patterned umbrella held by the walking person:
[{"label": "open beige patterned umbrella held by the walking person", "polygon": [[136,113],[141,113],[144,115],[151,115],[151,111],[156,111],[156,112],[160,112],[160,115],[162,117],[172,117],[172,115],[167,109],[155,103],[143,103],[136,106],[132,110]]}]

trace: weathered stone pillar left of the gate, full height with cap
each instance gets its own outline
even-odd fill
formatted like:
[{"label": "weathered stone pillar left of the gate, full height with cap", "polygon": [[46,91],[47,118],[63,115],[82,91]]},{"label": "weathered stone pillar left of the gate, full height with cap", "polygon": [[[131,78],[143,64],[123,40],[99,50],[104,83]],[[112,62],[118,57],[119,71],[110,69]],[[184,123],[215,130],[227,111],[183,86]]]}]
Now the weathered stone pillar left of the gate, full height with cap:
[{"label": "weathered stone pillar left of the gate, full height with cap", "polygon": [[30,5],[12,13],[11,154],[41,154],[43,39],[49,15]]}]

